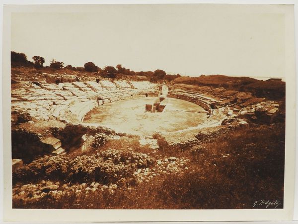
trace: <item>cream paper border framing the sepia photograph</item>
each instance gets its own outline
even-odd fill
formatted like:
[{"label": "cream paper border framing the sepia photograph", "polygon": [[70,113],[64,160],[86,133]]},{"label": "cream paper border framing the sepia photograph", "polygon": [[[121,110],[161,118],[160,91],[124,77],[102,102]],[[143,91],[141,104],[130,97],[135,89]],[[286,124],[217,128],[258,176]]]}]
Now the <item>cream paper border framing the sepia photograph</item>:
[{"label": "cream paper border framing the sepia photograph", "polygon": [[[243,6],[243,4],[241,4]],[[247,4],[250,5],[252,4]],[[67,7],[64,7],[67,6]],[[265,4],[265,8],[268,4]],[[296,72],[294,5],[277,7],[285,13],[286,151],[283,209],[251,210],[45,210],[12,209],[11,124],[10,124],[10,16],[13,12],[81,12],[94,5],[4,5],[2,49],[2,109],[4,161],[4,220],[17,222],[183,222],[183,221],[283,221],[293,219]],[[260,5],[255,10],[261,10]],[[38,215],[37,215],[38,213]]]}]

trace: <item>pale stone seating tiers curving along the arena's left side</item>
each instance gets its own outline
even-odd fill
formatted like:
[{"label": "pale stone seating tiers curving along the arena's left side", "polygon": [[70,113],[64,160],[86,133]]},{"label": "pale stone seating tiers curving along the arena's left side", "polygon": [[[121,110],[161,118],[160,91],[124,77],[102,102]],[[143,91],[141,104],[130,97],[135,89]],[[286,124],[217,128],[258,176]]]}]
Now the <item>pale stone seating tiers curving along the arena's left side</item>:
[{"label": "pale stone seating tiers curving along the arena's left side", "polygon": [[[149,87],[132,89],[127,81],[117,81],[116,85],[111,83],[104,80],[101,83],[87,81],[37,86],[23,82],[26,88],[12,85],[11,110],[18,113],[27,112],[33,118],[41,120],[50,118],[68,120],[69,117],[70,120],[81,121],[85,113],[99,105],[98,100],[106,104],[133,96],[154,94]],[[141,86],[144,84],[146,82],[142,82]],[[15,88],[16,86],[19,88]]]}]

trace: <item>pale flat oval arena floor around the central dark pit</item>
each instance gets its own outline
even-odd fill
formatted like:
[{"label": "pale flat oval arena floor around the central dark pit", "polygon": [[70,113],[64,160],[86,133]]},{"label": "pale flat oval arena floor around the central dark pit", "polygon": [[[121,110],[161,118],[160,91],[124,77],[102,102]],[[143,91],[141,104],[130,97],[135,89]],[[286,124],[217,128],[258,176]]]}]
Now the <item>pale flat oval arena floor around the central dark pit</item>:
[{"label": "pale flat oval arena floor around the central dark pit", "polygon": [[168,98],[163,112],[146,112],[145,105],[155,99],[136,98],[99,106],[88,112],[83,122],[101,124],[118,132],[151,135],[197,126],[207,119],[206,111],[200,106],[173,98]]}]

